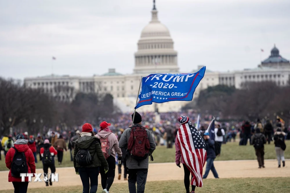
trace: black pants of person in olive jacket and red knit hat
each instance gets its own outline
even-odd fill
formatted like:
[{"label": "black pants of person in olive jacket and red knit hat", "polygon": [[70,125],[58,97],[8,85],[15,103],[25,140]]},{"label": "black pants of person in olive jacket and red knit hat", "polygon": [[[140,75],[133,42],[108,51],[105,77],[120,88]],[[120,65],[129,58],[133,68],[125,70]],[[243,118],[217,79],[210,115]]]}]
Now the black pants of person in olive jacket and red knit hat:
[{"label": "black pants of person in olive jacket and red knit hat", "polygon": [[79,176],[83,184],[83,193],[96,193],[98,189],[99,168],[79,168]]}]

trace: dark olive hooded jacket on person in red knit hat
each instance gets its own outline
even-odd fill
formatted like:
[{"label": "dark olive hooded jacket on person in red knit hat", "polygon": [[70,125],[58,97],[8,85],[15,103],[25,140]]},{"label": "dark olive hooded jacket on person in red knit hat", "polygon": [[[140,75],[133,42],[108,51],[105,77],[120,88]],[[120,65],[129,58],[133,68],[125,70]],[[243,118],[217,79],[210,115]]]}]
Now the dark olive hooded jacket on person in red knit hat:
[{"label": "dark olive hooded jacket on person in red knit hat", "polygon": [[[97,140],[97,143],[92,144],[95,140]],[[100,140],[95,137],[95,136],[83,136],[80,137],[79,139],[77,139],[76,141],[74,141],[73,143],[75,143],[75,150],[73,153],[73,165],[75,167],[75,171],[78,172],[78,168],[96,168],[99,166],[103,166],[104,168],[106,168],[107,170],[108,168],[108,163],[105,159],[105,156],[102,152],[102,148],[100,145]],[[80,166],[77,162],[76,162],[76,155],[77,152],[80,149],[88,149],[90,152],[91,157],[93,158],[93,163],[89,166]]]}]

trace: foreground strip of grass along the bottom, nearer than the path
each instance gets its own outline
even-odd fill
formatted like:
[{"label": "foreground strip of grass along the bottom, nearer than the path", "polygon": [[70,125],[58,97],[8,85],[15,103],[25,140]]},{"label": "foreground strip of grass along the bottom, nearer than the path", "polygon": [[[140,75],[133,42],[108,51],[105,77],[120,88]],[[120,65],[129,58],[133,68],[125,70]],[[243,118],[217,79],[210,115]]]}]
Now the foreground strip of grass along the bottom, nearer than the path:
[{"label": "foreground strip of grass along the bottom, nearer than the path", "polygon": [[[101,193],[102,187],[99,185],[98,193]],[[236,178],[236,179],[206,179],[204,180],[203,188],[196,188],[196,192],[220,192],[220,193],[264,193],[264,192],[289,192],[290,184],[289,178]],[[43,188],[29,188],[28,192],[59,192],[59,193],[76,193],[81,192],[82,186],[67,186],[67,187],[43,187]],[[13,190],[0,191],[5,193],[12,193]],[[184,184],[181,180],[176,181],[157,181],[147,182],[145,192],[155,193],[183,193]],[[128,193],[127,183],[115,183],[110,188],[110,193]]]}]

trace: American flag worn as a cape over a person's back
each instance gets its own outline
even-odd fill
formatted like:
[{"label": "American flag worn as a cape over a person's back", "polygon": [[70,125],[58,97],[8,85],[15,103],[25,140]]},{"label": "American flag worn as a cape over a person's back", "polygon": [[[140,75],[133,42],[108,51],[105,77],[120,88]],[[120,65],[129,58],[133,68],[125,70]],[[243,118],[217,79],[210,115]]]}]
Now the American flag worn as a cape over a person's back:
[{"label": "American flag worn as a cape over a person's back", "polygon": [[191,185],[202,187],[202,169],[206,161],[205,143],[202,136],[189,122],[178,129],[177,143],[184,163],[193,176]]}]

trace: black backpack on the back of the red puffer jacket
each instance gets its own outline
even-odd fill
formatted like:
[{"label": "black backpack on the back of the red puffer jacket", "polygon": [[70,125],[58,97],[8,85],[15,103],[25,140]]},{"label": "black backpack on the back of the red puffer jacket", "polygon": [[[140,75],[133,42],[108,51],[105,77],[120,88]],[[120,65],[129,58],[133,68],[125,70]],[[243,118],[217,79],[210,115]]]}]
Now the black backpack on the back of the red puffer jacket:
[{"label": "black backpack on the back of the red puffer jacket", "polygon": [[15,154],[11,164],[11,175],[13,177],[20,177],[20,173],[28,172],[26,157],[24,152],[17,151],[15,147],[12,148],[15,150]]}]

